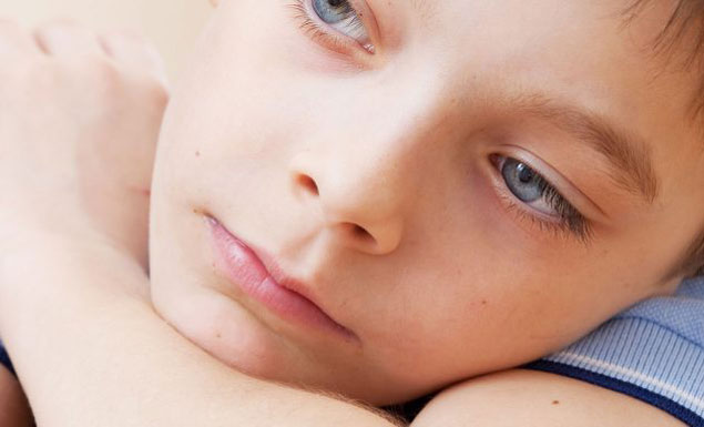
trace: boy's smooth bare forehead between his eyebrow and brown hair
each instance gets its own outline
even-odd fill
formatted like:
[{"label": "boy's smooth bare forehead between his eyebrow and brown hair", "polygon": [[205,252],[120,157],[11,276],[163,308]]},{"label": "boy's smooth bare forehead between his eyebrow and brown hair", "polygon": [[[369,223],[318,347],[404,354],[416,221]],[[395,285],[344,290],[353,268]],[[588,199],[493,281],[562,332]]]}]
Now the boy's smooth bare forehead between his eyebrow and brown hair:
[{"label": "boy's smooth bare forehead between his eyebrow and brown hair", "polygon": [[670,72],[666,58],[653,54],[676,0],[646,1],[637,9],[631,8],[634,0],[367,3],[382,32],[404,27],[398,32],[429,47],[420,52],[431,51],[433,61],[483,85],[502,79],[501,84],[544,90],[547,98],[579,101],[623,133],[642,136],[636,139],[646,149],[669,145],[657,142],[674,141],[674,133],[657,132],[684,123],[693,78]]}]

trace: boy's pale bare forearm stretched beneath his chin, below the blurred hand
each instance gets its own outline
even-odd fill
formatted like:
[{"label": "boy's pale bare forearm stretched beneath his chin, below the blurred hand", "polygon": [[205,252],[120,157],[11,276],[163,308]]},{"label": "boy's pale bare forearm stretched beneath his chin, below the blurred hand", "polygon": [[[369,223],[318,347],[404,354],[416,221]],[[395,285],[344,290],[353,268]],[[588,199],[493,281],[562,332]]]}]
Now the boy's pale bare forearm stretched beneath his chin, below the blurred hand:
[{"label": "boy's pale bare forearm stretched beneath his chin, below the blurred hand", "polygon": [[2,304],[2,333],[41,426],[391,425],[224,366],[124,291],[147,278],[109,250],[48,253],[12,272],[22,285],[3,291],[13,295],[2,295],[12,299]]}]

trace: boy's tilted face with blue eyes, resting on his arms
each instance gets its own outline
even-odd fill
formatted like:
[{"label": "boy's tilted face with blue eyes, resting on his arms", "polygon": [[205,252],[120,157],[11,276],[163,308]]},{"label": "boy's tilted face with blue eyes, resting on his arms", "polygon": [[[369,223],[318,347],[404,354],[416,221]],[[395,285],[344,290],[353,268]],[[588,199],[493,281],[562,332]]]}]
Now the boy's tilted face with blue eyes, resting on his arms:
[{"label": "boy's tilted face with blue eyes, resting on his arms", "polygon": [[[164,124],[157,309],[247,373],[381,405],[672,292],[703,226],[695,84],[650,51],[671,4],[628,6],[225,1]],[[206,215],[346,333],[228,279]]]}]

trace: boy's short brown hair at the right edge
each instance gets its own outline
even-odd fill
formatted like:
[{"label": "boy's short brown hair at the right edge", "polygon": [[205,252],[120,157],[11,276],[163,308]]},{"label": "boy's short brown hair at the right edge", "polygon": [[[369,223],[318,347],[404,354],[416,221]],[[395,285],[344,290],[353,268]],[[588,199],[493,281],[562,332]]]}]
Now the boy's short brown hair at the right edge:
[{"label": "boy's short brown hair at the right edge", "polygon": [[[634,0],[625,9],[626,24],[636,19],[653,0]],[[695,71],[701,75],[691,105],[692,120],[700,129],[704,148],[704,0],[676,0],[662,31],[655,34],[652,45],[656,55],[666,55],[669,63],[677,63],[682,71]],[[670,61],[675,53],[684,53],[679,61]],[[704,212],[701,213],[704,215]],[[693,240],[679,268],[679,274],[704,274],[704,231]]]}]

